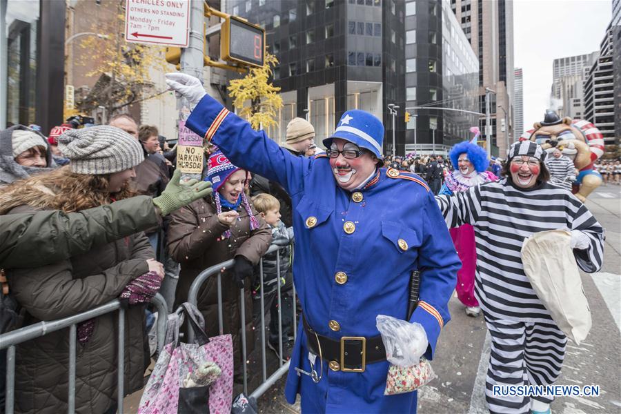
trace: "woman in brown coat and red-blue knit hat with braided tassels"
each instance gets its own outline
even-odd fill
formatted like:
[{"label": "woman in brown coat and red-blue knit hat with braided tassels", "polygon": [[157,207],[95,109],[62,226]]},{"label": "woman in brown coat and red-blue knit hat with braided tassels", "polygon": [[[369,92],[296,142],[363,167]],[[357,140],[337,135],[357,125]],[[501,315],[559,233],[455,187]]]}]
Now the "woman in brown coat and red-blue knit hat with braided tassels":
[{"label": "woman in brown coat and red-blue knit hat with braided tassels", "polygon": [[[181,263],[175,304],[186,302],[190,285],[206,268],[235,258],[233,270],[221,277],[224,333],[233,335],[236,367],[242,362],[239,332],[239,288],[244,279],[252,277],[253,266],[259,263],[272,234],[263,219],[250,206],[244,185],[246,171],[230,164],[220,151],[208,161],[208,177],[213,183],[213,196],[199,199],[170,216],[168,250]],[[252,299],[246,282],[246,344],[250,353],[252,335]],[[209,277],[198,294],[198,308],[203,313],[208,335],[218,335],[217,277]],[[237,371],[237,369],[235,370]]]}]

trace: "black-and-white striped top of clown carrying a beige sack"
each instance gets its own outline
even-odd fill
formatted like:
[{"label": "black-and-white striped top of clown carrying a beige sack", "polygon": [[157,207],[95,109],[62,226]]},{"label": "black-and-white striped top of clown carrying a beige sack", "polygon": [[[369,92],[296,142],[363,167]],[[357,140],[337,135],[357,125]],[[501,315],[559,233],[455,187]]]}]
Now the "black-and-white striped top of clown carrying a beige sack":
[{"label": "black-and-white striped top of clown carrying a beige sack", "polygon": [[435,198],[449,228],[474,226],[475,295],[486,315],[493,318],[540,323],[552,319],[522,266],[522,243],[533,233],[580,230],[589,236],[591,246],[574,250],[578,266],[587,273],[602,266],[604,229],[584,204],[563,188],[544,183],[524,190],[504,178],[451,197]]}]

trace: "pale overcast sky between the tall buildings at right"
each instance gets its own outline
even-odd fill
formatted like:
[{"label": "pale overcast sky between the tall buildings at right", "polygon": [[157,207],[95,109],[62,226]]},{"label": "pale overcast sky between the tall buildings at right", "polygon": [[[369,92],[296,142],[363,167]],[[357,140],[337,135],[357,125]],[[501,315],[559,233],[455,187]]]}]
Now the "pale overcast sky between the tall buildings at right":
[{"label": "pale overcast sky between the tall buildings at right", "polygon": [[514,63],[524,73],[525,130],[549,108],[552,61],[599,50],[611,15],[611,0],[513,1]]}]

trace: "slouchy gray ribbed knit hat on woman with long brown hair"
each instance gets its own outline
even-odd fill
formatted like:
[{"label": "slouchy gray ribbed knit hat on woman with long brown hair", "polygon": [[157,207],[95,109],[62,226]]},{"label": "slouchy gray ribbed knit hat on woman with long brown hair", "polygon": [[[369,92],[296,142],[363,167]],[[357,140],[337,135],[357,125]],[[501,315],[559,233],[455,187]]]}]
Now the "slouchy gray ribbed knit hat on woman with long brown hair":
[{"label": "slouchy gray ribbed knit hat on woman with long brown hair", "polygon": [[76,174],[112,174],[144,161],[138,140],[108,125],[68,130],[58,137],[58,149]]}]

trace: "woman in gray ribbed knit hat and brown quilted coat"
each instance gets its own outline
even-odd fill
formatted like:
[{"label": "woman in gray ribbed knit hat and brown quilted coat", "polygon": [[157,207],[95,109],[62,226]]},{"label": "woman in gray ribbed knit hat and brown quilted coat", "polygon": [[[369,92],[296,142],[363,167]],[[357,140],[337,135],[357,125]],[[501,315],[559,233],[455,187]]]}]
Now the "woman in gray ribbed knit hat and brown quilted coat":
[{"label": "woman in gray ribbed knit hat and brown quilted coat", "polygon": [[[59,137],[70,166],[17,181],[0,193],[0,214],[60,209],[66,213],[130,197],[128,181],[142,161],[138,141],[110,126],[70,130]],[[50,244],[55,234],[49,234]],[[33,251],[32,255],[37,252]],[[10,291],[22,306],[23,325],[68,317],[106,304],[147,273],[164,275],[143,233],[37,268],[7,270]],[[151,274],[150,272],[153,272]],[[156,276],[157,275],[157,276]],[[157,287],[153,288],[155,294]],[[131,303],[131,299],[130,299]],[[125,394],[143,386],[148,362],[144,306],[125,318]],[[69,329],[17,346],[15,408],[23,413],[67,411]],[[78,413],[117,407],[118,315],[108,313],[77,325],[75,404]],[[146,350],[146,351],[145,351]]]}]

